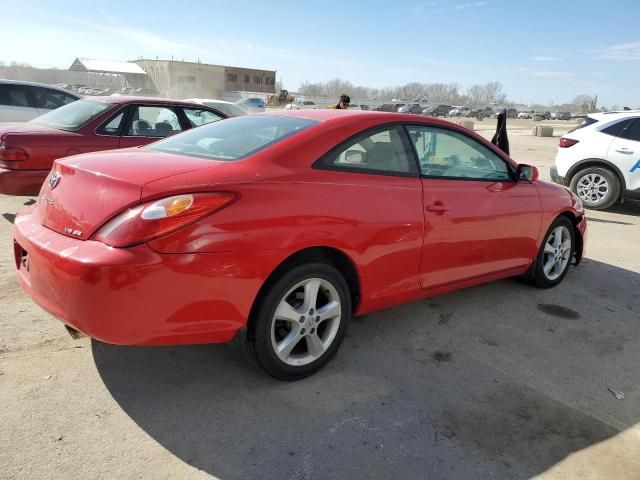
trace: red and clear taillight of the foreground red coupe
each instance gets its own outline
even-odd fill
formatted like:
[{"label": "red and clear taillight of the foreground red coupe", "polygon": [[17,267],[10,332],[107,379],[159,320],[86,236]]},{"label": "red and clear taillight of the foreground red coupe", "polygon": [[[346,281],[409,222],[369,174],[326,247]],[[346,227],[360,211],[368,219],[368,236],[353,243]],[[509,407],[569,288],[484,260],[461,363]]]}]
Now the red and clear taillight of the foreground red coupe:
[{"label": "red and clear taillight of the foreground red coupe", "polygon": [[112,247],[129,247],[167,235],[230,205],[230,192],[175,195],[135,207],[105,223],[93,236]]}]

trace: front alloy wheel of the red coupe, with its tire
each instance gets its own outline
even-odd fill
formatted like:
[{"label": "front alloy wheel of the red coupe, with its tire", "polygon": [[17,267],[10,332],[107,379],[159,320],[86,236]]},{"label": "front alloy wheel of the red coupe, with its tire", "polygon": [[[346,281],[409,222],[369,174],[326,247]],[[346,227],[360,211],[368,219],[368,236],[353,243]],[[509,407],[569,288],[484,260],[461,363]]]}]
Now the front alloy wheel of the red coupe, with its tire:
[{"label": "front alloy wheel of the red coupe, with its tire", "polygon": [[560,217],[553,222],[533,267],[533,284],[536,287],[550,288],[562,281],[569,271],[575,244],[575,230],[571,221]]}]

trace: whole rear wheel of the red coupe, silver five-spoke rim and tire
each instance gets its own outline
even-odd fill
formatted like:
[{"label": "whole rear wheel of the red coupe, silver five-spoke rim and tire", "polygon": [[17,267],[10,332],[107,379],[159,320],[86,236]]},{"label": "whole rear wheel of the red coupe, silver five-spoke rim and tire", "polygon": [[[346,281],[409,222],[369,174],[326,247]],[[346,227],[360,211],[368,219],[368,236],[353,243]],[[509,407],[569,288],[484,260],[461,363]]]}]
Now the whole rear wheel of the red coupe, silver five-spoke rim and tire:
[{"label": "whole rear wheel of the red coupe, silver five-spoke rim and tire", "polygon": [[255,315],[248,342],[253,357],[270,375],[298,380],[340,347],[351,317],[349,287],[330,265],[299,265],[276,280]]}]

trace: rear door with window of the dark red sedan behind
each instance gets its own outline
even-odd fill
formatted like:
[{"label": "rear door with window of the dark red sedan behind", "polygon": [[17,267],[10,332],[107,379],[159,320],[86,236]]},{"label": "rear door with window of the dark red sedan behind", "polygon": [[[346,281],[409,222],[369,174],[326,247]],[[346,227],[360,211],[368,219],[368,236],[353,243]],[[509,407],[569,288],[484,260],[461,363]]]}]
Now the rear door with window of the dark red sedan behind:
[{"label": "rear door with window of the dark red sedan behind", "polygon": [[147,145],[183,130],[176,107],[133,104],[130,108],[120,148]]}]

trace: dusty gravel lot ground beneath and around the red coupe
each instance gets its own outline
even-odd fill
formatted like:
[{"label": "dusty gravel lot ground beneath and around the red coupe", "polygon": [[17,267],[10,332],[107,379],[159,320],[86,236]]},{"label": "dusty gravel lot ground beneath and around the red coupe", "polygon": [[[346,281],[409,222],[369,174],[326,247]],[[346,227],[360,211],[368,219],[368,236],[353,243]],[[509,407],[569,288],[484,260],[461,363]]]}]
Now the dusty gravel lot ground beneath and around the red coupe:
[{"label": "dusty gravel lot ground beneath and around the red coupe", "polygon": [[[548,178],[557,138],[509,124]],[[0,478],[640,478],[638,204],[588,212],[587,258],[555,289],[354,319],[327,368],[282,383],[225,345],[72,340],[14,278],[27,200],[0,196]]]}]

